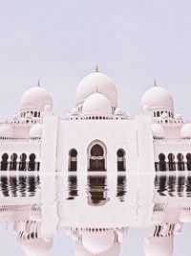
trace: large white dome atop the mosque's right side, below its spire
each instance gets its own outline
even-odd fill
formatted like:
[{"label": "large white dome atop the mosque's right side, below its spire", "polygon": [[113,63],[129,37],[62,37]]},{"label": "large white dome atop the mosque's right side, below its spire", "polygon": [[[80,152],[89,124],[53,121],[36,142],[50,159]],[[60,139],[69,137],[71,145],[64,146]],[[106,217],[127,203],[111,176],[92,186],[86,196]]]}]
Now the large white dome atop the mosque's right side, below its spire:
[{"label": "large white dome atop the mosque's right side, below its spire", "polygon": [[173,98],[170,93],[161,86],[152,86],[142,95],[140,101],[141,108],[148,105],[149,108],[174,108]]}]

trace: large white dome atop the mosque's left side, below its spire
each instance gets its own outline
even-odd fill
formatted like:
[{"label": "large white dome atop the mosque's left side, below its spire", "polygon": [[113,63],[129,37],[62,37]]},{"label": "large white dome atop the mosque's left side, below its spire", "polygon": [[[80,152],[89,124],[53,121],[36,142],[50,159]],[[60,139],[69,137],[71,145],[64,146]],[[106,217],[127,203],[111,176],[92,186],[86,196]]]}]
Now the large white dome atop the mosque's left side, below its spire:
[{"label": "large white dome atop the mosque's left side, below its spire", "polygon": [[44,109],[45,105],[53,106],[51,95],[41,86],[34,86],[27,90],[20,101],[20,108],[35,107],[40,110]]}]

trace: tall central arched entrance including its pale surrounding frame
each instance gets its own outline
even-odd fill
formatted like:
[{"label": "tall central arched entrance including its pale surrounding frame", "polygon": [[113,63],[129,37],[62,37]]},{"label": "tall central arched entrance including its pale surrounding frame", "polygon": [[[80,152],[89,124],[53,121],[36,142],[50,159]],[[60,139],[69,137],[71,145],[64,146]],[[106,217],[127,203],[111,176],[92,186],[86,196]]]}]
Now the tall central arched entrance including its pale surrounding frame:
[{"label": "tall central arched entrance including its pale surrounding frame", "polygon": [[106,170],[106,147],[100,141],[95,141],[88,149],[89,171]]}]

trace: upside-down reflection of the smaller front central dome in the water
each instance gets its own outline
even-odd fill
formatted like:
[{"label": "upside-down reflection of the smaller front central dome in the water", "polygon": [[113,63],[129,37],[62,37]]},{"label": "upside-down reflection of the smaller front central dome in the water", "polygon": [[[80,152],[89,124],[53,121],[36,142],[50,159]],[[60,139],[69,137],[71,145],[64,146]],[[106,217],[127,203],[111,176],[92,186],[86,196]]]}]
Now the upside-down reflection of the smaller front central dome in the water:
[{"label": "upside-down reflection of the smaller front central dome in the water", "polygon": [[103,253],[115,244],[115,233],[113,230],[107,230],[104,232],[83,232],[82,244],[94,255]]}]

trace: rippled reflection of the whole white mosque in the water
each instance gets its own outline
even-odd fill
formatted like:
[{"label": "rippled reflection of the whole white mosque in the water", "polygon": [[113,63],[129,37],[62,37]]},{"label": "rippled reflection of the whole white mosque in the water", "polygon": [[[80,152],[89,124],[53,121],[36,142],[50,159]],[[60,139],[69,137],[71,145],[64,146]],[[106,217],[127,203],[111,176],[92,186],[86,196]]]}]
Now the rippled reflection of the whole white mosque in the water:
[{"label": "rippled reflection of the whole white mosque in the water", "polygon": [[0,225],[28,256],[48,255],[58,230],[75,256],[118,256],[132,227],[144,231],[145,256],[172,256],[174,235],[191,222],[190,197],[186,175],[6,175]]}]

